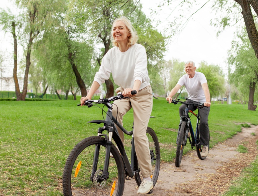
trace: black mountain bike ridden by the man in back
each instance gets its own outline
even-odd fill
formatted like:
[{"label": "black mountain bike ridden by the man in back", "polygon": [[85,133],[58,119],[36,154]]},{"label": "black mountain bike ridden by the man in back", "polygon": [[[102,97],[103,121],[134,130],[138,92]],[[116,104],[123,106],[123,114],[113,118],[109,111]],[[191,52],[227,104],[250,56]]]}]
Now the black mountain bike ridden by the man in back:
[{"label": "black mountain bike ridden by the man in back", "polygon": [[[181,160],[182,160],[182,156],[183,156],[183,150],[184,150],[184,146],[187,143],[187,138],[189,139],[189,142],[191,144],[191,148],[193,149],[193,147],[196,147],[196,153],[197,156],[199,157],[199,159],[204,160],[206,159],[206,157],[202,157],[201,156],[201,152],[202,152],[202,146],[200,145],[200,117],[199,117],[199,112],[196,115],[196,113],[194,113],[194,111],[188,110],[188,107],[190,105],[196,106],[198,107],[205,107],[203,103],[200,104],[193,104],[193,103],[187,103],[187,102],[183,102],[183,101],[179,101],[178,100],[172,100],[172,103],[174,104],[178,104],[178,103],[182,103],[185,104],[185,112],[184,112],[184,116],[180,117],[180,123],[178,126],[178,133],[177,133],[177,138],[176,138],[176,160],[175,160],[175,165],[176,167],[180,166]],[[188,113],[191,113],[191,115],[189,116]],[[196,131],[195,133],[193,132],[193,127],[191,124],[191,116],[195,116],[197,118],[197,122],[196,122]],[[191,133],[191,136],[188,136],[188,132]],[[209,134],[209,142],[208,142],[208,148],[210,143],[210,134]]]}]

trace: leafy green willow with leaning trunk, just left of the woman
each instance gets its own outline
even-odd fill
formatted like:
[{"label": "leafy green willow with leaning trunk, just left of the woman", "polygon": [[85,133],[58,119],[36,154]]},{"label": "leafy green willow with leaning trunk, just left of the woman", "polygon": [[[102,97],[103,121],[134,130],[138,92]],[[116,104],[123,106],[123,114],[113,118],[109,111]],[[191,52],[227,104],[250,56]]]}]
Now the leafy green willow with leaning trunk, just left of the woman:
[{"label": "leafy green willow with leaning trunk, just left of the woman", "polygon": [[67,21],[67,11],[68,2],[64,1],[53,27],[38,42],[36,56],[52,89],[67,92],[71,88],[73,93],[79,87],[81,95],[86,96],[93,75],[91,70],[95,70],[91,62],[93,47],[85,38],[87,32],[79,31],[75,23]]}]

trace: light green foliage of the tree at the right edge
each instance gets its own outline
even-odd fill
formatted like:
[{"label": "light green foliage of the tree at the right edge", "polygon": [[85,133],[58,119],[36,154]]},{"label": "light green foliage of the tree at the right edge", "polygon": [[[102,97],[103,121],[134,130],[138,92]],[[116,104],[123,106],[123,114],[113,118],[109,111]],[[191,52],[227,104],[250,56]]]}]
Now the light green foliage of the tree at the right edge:
[{"label": "light green foliage of the tree at the right edge", "polygon": [[[242,103],[248,102],[249,87],[258,81],[258,60],[245,28],[232,41],[228,56],[229,81],[236,87],[233,95]],[[254,100],[258,100],[257,90]]]}]

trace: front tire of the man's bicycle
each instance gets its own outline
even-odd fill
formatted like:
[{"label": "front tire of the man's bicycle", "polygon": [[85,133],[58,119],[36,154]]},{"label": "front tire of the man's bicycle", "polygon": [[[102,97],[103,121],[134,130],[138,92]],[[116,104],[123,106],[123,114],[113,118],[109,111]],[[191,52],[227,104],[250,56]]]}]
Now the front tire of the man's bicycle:
[{"label": "front tire of the man's bicycle", "polygon": [[183,121],[179,129],[177,146],[176,146],[176,159],[175,159],[176,167],[180,167],[180,164],[181,164],[186,132],[187,132],[187,123]]}]

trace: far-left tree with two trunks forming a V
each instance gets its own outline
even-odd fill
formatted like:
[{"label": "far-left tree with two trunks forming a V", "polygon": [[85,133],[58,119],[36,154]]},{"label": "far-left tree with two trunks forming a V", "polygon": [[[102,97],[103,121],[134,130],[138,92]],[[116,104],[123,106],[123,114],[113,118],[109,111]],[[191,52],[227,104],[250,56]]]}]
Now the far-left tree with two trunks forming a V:
[{"label": "far-left tree with two trunks forming a V", "polygon": [[[56,12],[61,1],[53,0],[17,0],[16,5],[20,8],[21,14],[15,17],[13,14],[1,9],[0,24],[3,26],[5,32],[10,32],[14,39],[14,83],[17,101],[25,100],[27,94],[28,74],[30,69],[30,57],[32,52],[32,45],[38,35],[51,24],[51,16]],[[18,32],[17,33],[17,29]],[[24,73],[24,83],[22,93],[20,92],[18,78],[17,78],[17,37],[21,43],[25,45],[26,50],[26,67]]]}]

